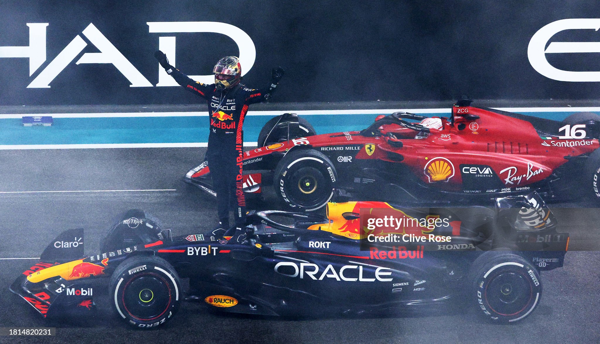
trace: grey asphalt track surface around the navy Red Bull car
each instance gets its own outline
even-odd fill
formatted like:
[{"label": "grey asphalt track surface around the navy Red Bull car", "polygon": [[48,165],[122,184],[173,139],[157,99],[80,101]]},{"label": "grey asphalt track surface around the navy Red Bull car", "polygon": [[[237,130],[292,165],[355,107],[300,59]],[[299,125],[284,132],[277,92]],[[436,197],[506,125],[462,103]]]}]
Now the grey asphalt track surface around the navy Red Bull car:
[{"label": "grey asphalt track surface around the navy Red Bull car", "polygon": [[[176,189],[0,194],[0,258],[39,257],[62,230],[79,227],[86,229],[86,254],[94,254],[110,225],[133,208],[157,216],[175,235],[208,230],[217,220],[213,203],[181,180],[203,153],[197,148],[0,151],[0,191]],[[267,197],[263,208],[274,205]],[[560,224],[568,225],[564,230],[571,232],[570,249],[591,249],[598,242],[600,212],[554,212]],[[99,309],[90,324],[47,324],[8,291],[17,274],[37,261],[0,260],[0,327],[53,325],[58,335],[44,342],[61,343],[599,343],[599,259],[600,252],[569,252],[564,268],[542,273],[544,295],[538,309],[512,325],[456,309],[410,317],[292,320],[222,315],[202,303],[183,303],[173,321],[153,331],[122,324],[108,306],[102,284],[94,288]],[[8,341],[0,337],[0,342]]]}]

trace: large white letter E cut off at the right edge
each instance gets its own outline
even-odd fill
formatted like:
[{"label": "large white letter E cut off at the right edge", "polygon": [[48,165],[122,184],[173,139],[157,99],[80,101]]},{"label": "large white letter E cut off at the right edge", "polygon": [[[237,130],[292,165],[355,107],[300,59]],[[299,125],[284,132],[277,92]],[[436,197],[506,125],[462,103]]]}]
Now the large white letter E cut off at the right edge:
[{"label": "large white letter E cut off at the right edge", "polygon": [[[555,34],[565,30],[588,29],[598,31],[600,19],[562,19],[552,22],[536,32],[527,47],[527,58],[534,70],[542,76],[562,82],[600,82],[600,71],[559,70],[548,62],[546,54],[600,53],[598,42],[550,42]],[[600,37],[598,38],[600,40]]]}]

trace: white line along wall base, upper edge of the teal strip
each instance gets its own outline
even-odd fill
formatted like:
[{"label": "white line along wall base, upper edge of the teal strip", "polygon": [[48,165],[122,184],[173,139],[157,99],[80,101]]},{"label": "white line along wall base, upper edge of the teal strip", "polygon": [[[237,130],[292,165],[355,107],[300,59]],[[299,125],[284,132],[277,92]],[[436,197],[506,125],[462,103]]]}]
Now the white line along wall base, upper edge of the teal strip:
[{"label": "white line along wall base, upper edge of the teal strip", "polygon": [[[497,107],[497,110],[509,112],[562,112],[562,111],[600,111],[600,107]],[[248,111],[247,116],[275,116],[291,112],[299,115],[327,114],[381,114],[396,111],[412,113],[449,113],[450,107],[445,108],[382,108],[364,110],[277,110],[277,111]],[[20,119],[23,116],[52,116],[54,118],[101,118],[101,117],[204,117],[207,111],[188,112],[114,112],[114,113],[23,113],[0,114],[0,119]]]}]

